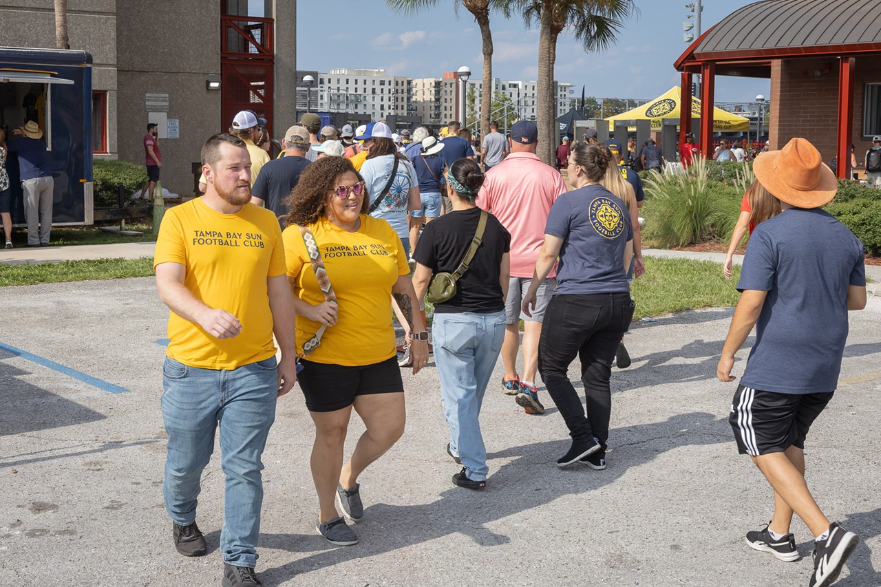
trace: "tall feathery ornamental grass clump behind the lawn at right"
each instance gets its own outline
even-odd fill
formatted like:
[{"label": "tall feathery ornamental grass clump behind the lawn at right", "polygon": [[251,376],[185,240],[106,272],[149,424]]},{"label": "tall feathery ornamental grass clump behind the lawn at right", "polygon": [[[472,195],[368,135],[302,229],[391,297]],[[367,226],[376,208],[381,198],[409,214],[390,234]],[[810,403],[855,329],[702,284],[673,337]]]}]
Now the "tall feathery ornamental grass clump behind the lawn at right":
[{"label": "tall feathery ornamental grass clump behind the lawn at right", "polygon": [[660,247],[685,247],[729,237],[737,223],[743,192],[711,181],[708,167],[698,164],[686,175],[656,174],[646,179],[644,239]]}]

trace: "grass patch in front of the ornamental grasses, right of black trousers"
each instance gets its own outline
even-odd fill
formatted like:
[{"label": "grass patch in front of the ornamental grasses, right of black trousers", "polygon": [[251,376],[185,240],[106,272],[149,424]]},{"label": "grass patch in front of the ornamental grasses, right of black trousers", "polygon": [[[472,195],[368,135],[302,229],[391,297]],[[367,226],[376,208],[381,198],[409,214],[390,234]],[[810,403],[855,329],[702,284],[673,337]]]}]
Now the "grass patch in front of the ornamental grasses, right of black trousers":
[{"label": "grass patch in front of the ornamental grasses, right of black trousers", "polygon": [[722,264],[691,259],[645,257],[646,273],[634,279],[631,296],[636,301],[634,320],[663,316],[688,309],[725,308],[737,304],[740,266],[731,279],[722,275]]}]

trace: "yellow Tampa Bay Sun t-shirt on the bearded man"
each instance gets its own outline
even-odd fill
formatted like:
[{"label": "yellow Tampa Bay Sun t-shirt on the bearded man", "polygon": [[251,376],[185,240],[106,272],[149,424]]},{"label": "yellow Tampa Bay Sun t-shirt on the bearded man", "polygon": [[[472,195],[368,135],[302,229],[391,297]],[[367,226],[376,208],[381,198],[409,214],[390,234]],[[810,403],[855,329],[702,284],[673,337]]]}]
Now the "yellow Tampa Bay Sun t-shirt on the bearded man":
[{"label": "yellow Tampa Bay Sun t-shirt on the bearded man", "polygon": [[285,274],[285,249],[275,214],[254,204],[223,214],[201,197],[175,206],[159,228],[153,266],[160,263],[183,265],[187,289],[241,323],[238,336],[220,339],[170,312],[169,357],[190,367],[234,369],[276,353],[266,279]]}]

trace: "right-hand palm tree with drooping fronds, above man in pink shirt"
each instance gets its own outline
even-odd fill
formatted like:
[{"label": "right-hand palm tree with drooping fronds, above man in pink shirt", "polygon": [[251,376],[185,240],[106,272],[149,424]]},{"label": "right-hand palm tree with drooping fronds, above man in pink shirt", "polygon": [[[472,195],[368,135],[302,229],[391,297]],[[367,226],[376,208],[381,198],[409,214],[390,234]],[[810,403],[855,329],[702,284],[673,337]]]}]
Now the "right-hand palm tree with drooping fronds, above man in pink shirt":
[{"label": "right-hand palm tree with drooping fronds, above man in pink shirt", "polygon": [[506,11],[522,11],[527,26],[536,21],[538,33],[538,83],[536,118],[538,157],[548,165],[555,160],[554,124],[557,100],[553,69],[557,60],[557,38],[566,27],[581,41],[585,51],[610,47],[618,38],[624,20],[638,13],[633,0],[509,0]]}]

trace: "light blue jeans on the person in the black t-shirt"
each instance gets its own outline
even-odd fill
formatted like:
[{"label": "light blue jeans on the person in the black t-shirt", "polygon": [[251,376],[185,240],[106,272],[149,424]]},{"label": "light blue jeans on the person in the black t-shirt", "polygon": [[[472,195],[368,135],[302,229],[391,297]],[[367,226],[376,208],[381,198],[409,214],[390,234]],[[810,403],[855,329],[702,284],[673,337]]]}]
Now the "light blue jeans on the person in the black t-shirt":
[{"label": "light blue jeans on the person in the black t-shirt", "polygon": [[469,479],[486,479],[486,447],[480,405],[505,339],[505,312],[435,314],[434,360],[449,426],[449,446]]}]

